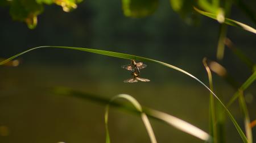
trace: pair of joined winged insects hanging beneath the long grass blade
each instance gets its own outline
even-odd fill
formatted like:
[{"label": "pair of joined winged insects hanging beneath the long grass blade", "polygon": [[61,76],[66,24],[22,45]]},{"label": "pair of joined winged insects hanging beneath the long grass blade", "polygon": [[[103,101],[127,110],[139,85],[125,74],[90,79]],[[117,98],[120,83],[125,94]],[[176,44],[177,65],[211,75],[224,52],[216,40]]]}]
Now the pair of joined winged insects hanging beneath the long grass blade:
[{"label": "pair of joined winged insects hanging beneath the long grass blade", "polygon": [[142,62],[136,63],[135,60],[131,60],[131,64],[123,65],[121,67],[123,69],[131,70],[131,75],[133,76],[132,78],[129,78],[123,82],[138,82],[138,81],[149,82],[150,81],[150,79],[139,77],[141,76],[141,72],[139,70],[147,67],[147,65],[143,64]]}]

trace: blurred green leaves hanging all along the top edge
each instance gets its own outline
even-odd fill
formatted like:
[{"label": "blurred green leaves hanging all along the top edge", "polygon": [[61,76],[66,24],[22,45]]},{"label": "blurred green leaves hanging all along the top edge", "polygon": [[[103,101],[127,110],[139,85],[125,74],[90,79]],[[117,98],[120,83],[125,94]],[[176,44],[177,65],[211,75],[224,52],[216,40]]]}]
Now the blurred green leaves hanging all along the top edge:
[{"label": "blurred green leaves hanging all along the top edge", "polygon": [[[59,5],[63,11],[69,12],[77,8],[77,4],[83,0],[1,0],[0,6],[9,6],[10,15],[13,20],[26,22],[28,28],[33,29],[38,23],[38,15],[42,14],[44,5]],[[187,23],[196,23],[198,14],[193,10],[193,7],[199,7],[212,14],[225,16],[226,5],[232,3],[237,5],[245,14],[255,21],[254,12],[243,1],[220,1],[220,0],[170,0],[171,8],[185,19]],[[131,18],[142,18],[154,14],[158,9],[159,0],[122,0],[123,14]]]}]

